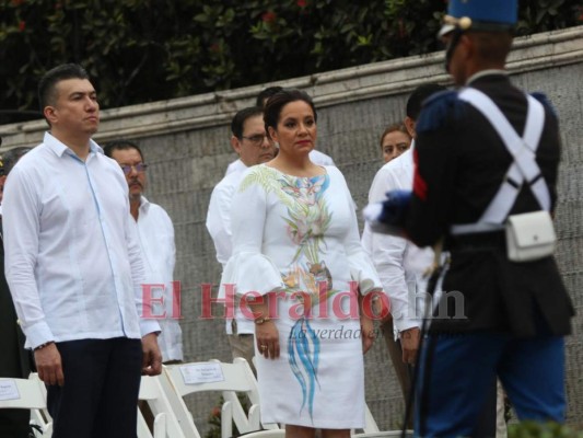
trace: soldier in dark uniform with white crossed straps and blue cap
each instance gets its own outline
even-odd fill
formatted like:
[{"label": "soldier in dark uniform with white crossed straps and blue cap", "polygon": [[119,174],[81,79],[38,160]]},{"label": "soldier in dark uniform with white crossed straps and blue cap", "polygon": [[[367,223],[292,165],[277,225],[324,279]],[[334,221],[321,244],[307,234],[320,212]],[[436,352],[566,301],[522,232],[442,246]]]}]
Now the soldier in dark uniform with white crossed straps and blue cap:
[{"label": "soldier in dark uniform with white crossed straps and blue cap", "polygon": [[474,436],[497,376],[522,420],[564,420],[563,337],[573,308],[552,250],[513,255],[505,231],[509,218],[525,218],[518,234],[535,243],[553,234],[560,158],[549,102],[504,71],[516,7],[450,1],[441,36],[459,89],[425,102],[412,195],[389,194],[377,217],[419,246],[443,241],[451,253],[420,358],[422,437]]}]

